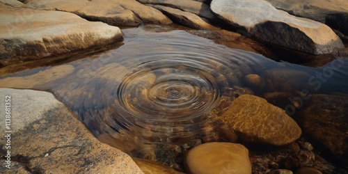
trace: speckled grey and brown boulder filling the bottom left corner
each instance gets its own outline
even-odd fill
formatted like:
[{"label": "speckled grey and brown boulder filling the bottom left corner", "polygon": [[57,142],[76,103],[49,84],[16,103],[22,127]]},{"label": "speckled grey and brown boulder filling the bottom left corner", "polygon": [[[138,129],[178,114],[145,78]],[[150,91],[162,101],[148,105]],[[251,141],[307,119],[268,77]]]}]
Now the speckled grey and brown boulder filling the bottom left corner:
[{"label": "speckled grey and brown boulder filling the bottom left corner", "polygon": [[[10,155],[31,173],[143,173],[125,153],[100,143],[54,95],[35,90],[0,88],[10,95]],[[5,100],[1,100],[5,108]],[[0,122],[5,122],[5,112]],[[5,130],[5,124],[0,125]],[[2,150],[6,137],[1,136]],[[22,165],[17,171],[25,171]],[[4,171],[5,173],[14,168]]]}]

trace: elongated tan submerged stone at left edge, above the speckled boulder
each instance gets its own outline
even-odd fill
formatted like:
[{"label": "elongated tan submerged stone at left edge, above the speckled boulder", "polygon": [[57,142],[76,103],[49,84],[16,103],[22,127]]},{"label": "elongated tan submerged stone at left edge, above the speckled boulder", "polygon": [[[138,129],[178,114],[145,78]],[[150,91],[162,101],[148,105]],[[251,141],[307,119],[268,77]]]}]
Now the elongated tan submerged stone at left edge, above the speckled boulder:
[{"label": "elongated tan submerged stone at left edge, above the speckled boulder", "polygon": [[74,67],[72,65],[58,65],[25,77],[7,77],[5,79],[0,79],[0,87],[33,88],[34,86],[47,84],[50,81],[66,77],[72,72],[74,72]]}]

